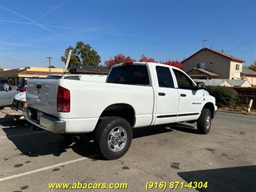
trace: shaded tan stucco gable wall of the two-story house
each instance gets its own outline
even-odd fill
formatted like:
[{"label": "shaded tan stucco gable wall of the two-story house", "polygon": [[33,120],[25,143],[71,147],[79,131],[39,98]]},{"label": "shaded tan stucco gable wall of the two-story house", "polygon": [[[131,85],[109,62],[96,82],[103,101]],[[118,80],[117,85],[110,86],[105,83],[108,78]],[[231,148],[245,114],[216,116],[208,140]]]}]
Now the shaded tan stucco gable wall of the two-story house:
[{"label": "shaded tan stucco gable wall of the two-story house", "polygon": [[192,70],[196,67],[196,63],[205,63],[205,70],[220,75],[220,79],[230,79],[230,59],[228,58],[212,51],[203,50],[184,61],[183,70],[185,72]]}]

